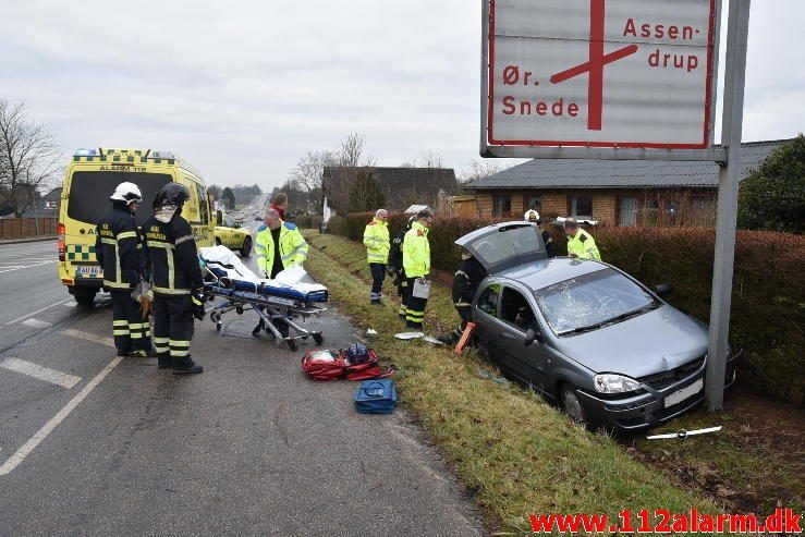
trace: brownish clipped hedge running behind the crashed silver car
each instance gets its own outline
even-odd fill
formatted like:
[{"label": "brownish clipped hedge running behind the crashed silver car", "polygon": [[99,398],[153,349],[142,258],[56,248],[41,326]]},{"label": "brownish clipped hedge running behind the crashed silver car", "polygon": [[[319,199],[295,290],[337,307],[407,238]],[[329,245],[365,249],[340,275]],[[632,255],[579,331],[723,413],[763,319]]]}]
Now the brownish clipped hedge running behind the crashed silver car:
[{"label": "brownish clipped hedge running behind the crashed silver car", "polygon": [[[361,241],[371,213],[349,215],[330,231]],[[393,236],[407,220],[392,215]],[[452,271],[459,259],[453,241],[491,221],[437,217],[429,233],[431,264]],[[559,255],[566,254],[563,233],[550,230]],[[670,283],[669,302],[707,322],[710,316],[715,232],[710,228],[601,228],[593,231],[605,261],[645,284]],[[803,402],[805,376],[805,236],[768,231],[739,231],[730,338],[745,350],[743,381],[759,391]]]}]

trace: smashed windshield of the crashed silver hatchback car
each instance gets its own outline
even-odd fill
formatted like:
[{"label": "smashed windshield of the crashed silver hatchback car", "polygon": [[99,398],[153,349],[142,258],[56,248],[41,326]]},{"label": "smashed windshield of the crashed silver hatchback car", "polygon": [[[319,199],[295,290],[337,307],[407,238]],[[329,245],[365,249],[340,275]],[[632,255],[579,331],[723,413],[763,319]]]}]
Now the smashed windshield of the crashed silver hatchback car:
[{"label": "smashed windshield of the crashed silver hatchback car", "polygon": [[659,306],[643,288],[612,269],[556,283],[535,295],[558,335],[595,330]]}]

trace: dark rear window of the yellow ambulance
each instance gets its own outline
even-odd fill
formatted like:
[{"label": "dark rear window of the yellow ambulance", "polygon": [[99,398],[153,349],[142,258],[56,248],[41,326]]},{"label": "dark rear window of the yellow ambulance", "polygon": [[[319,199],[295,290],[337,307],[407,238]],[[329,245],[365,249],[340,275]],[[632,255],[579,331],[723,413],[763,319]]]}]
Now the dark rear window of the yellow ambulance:
[{"label": "dark rear window of the yellow ambulance", "polygon": [[68,216],[86,223],[97,223],[109,210],[109,196],[120,183],[136,184],[143,193],[135,219],[142,225],[151,216],[151,204],[166,183],[171,181],[167,173],[133,173],[122,171],[76,171],[70,182]]}]

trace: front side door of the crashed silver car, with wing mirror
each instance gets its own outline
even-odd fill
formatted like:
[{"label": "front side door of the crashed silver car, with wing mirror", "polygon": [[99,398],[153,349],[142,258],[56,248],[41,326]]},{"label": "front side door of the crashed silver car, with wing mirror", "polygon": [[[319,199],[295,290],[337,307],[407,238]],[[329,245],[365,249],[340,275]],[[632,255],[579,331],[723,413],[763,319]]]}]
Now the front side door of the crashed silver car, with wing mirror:
[{"label": "front side door of the crashed silver car, with wing mirror", "polygon": [[549,350],[538,341],[525,345],[526,332],[534,329],[544,333],[534,304],[527,293],[513,285],[504,285],[500,294],[498,349],[512,375],[526,385],[544,390],[547,383]]}]

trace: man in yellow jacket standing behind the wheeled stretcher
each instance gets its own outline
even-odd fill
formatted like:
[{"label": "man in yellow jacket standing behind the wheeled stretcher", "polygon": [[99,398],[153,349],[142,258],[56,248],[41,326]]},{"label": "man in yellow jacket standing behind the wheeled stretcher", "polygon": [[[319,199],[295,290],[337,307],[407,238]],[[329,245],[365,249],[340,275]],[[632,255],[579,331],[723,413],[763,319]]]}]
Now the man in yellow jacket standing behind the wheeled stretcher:
[{"label": "man in yellow jacket standing behind the wheeled stretcher", "polygon": [[[278,273],[293,265],[301,267],[307,259],[307,243],[296,225],[283,222],[277,209],[266,209],[263,221],[266,229],[257,233],[255,241],[260,277],[275,279]],[[275,326],[283,337],[286,337],[288,325],[277,322]],[[263,328],[265,327],[260,319],[252,334],[257,335]]]}]

